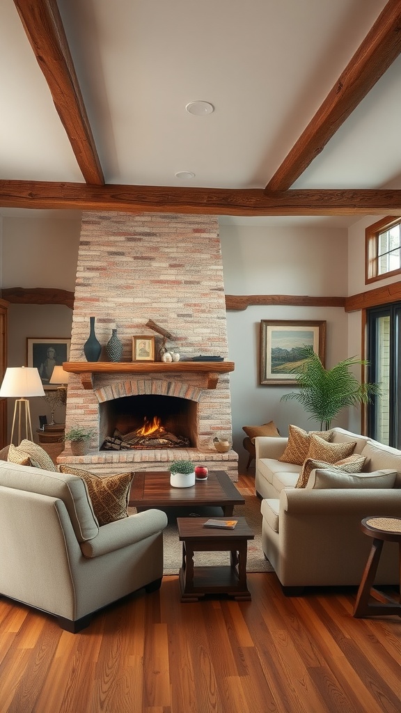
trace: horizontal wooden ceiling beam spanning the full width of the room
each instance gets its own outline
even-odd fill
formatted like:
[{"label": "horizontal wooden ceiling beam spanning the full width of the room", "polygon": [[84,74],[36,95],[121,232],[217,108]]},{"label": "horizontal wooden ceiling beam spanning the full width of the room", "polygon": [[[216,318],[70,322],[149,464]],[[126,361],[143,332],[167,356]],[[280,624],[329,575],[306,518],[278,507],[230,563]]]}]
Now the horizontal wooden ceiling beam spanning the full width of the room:
[{"label": "horizontal wooden ceiling beam spanning the full width of the room", "polygon": [[3,207],[199,215],[401,215],[401,190],[288,190],[0,180]]}]

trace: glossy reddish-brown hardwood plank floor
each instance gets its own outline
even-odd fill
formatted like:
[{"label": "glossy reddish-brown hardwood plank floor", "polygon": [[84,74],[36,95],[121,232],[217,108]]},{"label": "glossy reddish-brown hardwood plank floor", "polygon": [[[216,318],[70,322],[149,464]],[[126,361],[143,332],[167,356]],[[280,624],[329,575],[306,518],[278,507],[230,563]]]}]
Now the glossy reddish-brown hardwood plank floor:
[{"label": "glossy reddish-brown hardwood plank floor", "polygon": [[0,713],[400,713],[400,617],[354,619],[355,588],[248,587],[181,604],[169,576],[76,635],[0,598]]}]

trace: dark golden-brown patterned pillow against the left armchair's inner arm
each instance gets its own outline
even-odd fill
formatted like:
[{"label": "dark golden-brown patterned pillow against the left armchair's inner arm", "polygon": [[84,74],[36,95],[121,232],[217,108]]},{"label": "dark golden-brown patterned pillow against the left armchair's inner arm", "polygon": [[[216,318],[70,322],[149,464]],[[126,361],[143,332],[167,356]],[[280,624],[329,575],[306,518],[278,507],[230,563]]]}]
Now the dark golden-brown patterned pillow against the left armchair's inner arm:
[{"label": "dark golden-brown patterned pillow against the left armchair's inner arm", "polygon": [[86,483],[99,525],[107,525],[128,517],[127,506],[133,473],[117,473],[102,478],[96,473],[63,465],[60,466],[60,472],[71,473]]}]

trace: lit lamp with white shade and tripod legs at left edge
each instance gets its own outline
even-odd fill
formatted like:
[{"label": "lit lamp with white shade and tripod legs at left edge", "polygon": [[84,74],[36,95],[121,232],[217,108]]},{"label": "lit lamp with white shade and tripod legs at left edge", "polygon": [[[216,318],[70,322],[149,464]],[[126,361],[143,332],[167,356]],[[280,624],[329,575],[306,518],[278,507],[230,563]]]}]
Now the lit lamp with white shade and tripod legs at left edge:
[{"label": "lit lamp with white shade and tripod legs at left edge", "polygon": [[[34,440],[31,425],[31,411],[29,409],[28,398],[31,396],[44,396],[44,388],[36,367],[31,366],[11,366],[6,369],[3,383],[0,388],[0,399],[16,399],[14,405],[13,426],[11,429],[11,443],[14,439],[14,429],[18,420],[18,443],[22,440],[23,427],[25,438]],[[17,419],[18,414],[18,419]]]}]

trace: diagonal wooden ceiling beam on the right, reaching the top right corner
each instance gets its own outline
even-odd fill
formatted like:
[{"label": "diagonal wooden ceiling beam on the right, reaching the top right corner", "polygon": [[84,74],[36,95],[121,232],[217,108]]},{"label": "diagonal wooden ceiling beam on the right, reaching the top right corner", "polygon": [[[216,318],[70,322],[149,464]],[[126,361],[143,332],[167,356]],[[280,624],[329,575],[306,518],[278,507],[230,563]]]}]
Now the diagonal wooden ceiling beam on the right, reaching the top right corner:
[{"label": "diagonal wooden ceiling beam on the right, reaching the top right corner", "polygon": [[266,190],[288,190],[401,52],[401,0],[389,0]]}]

